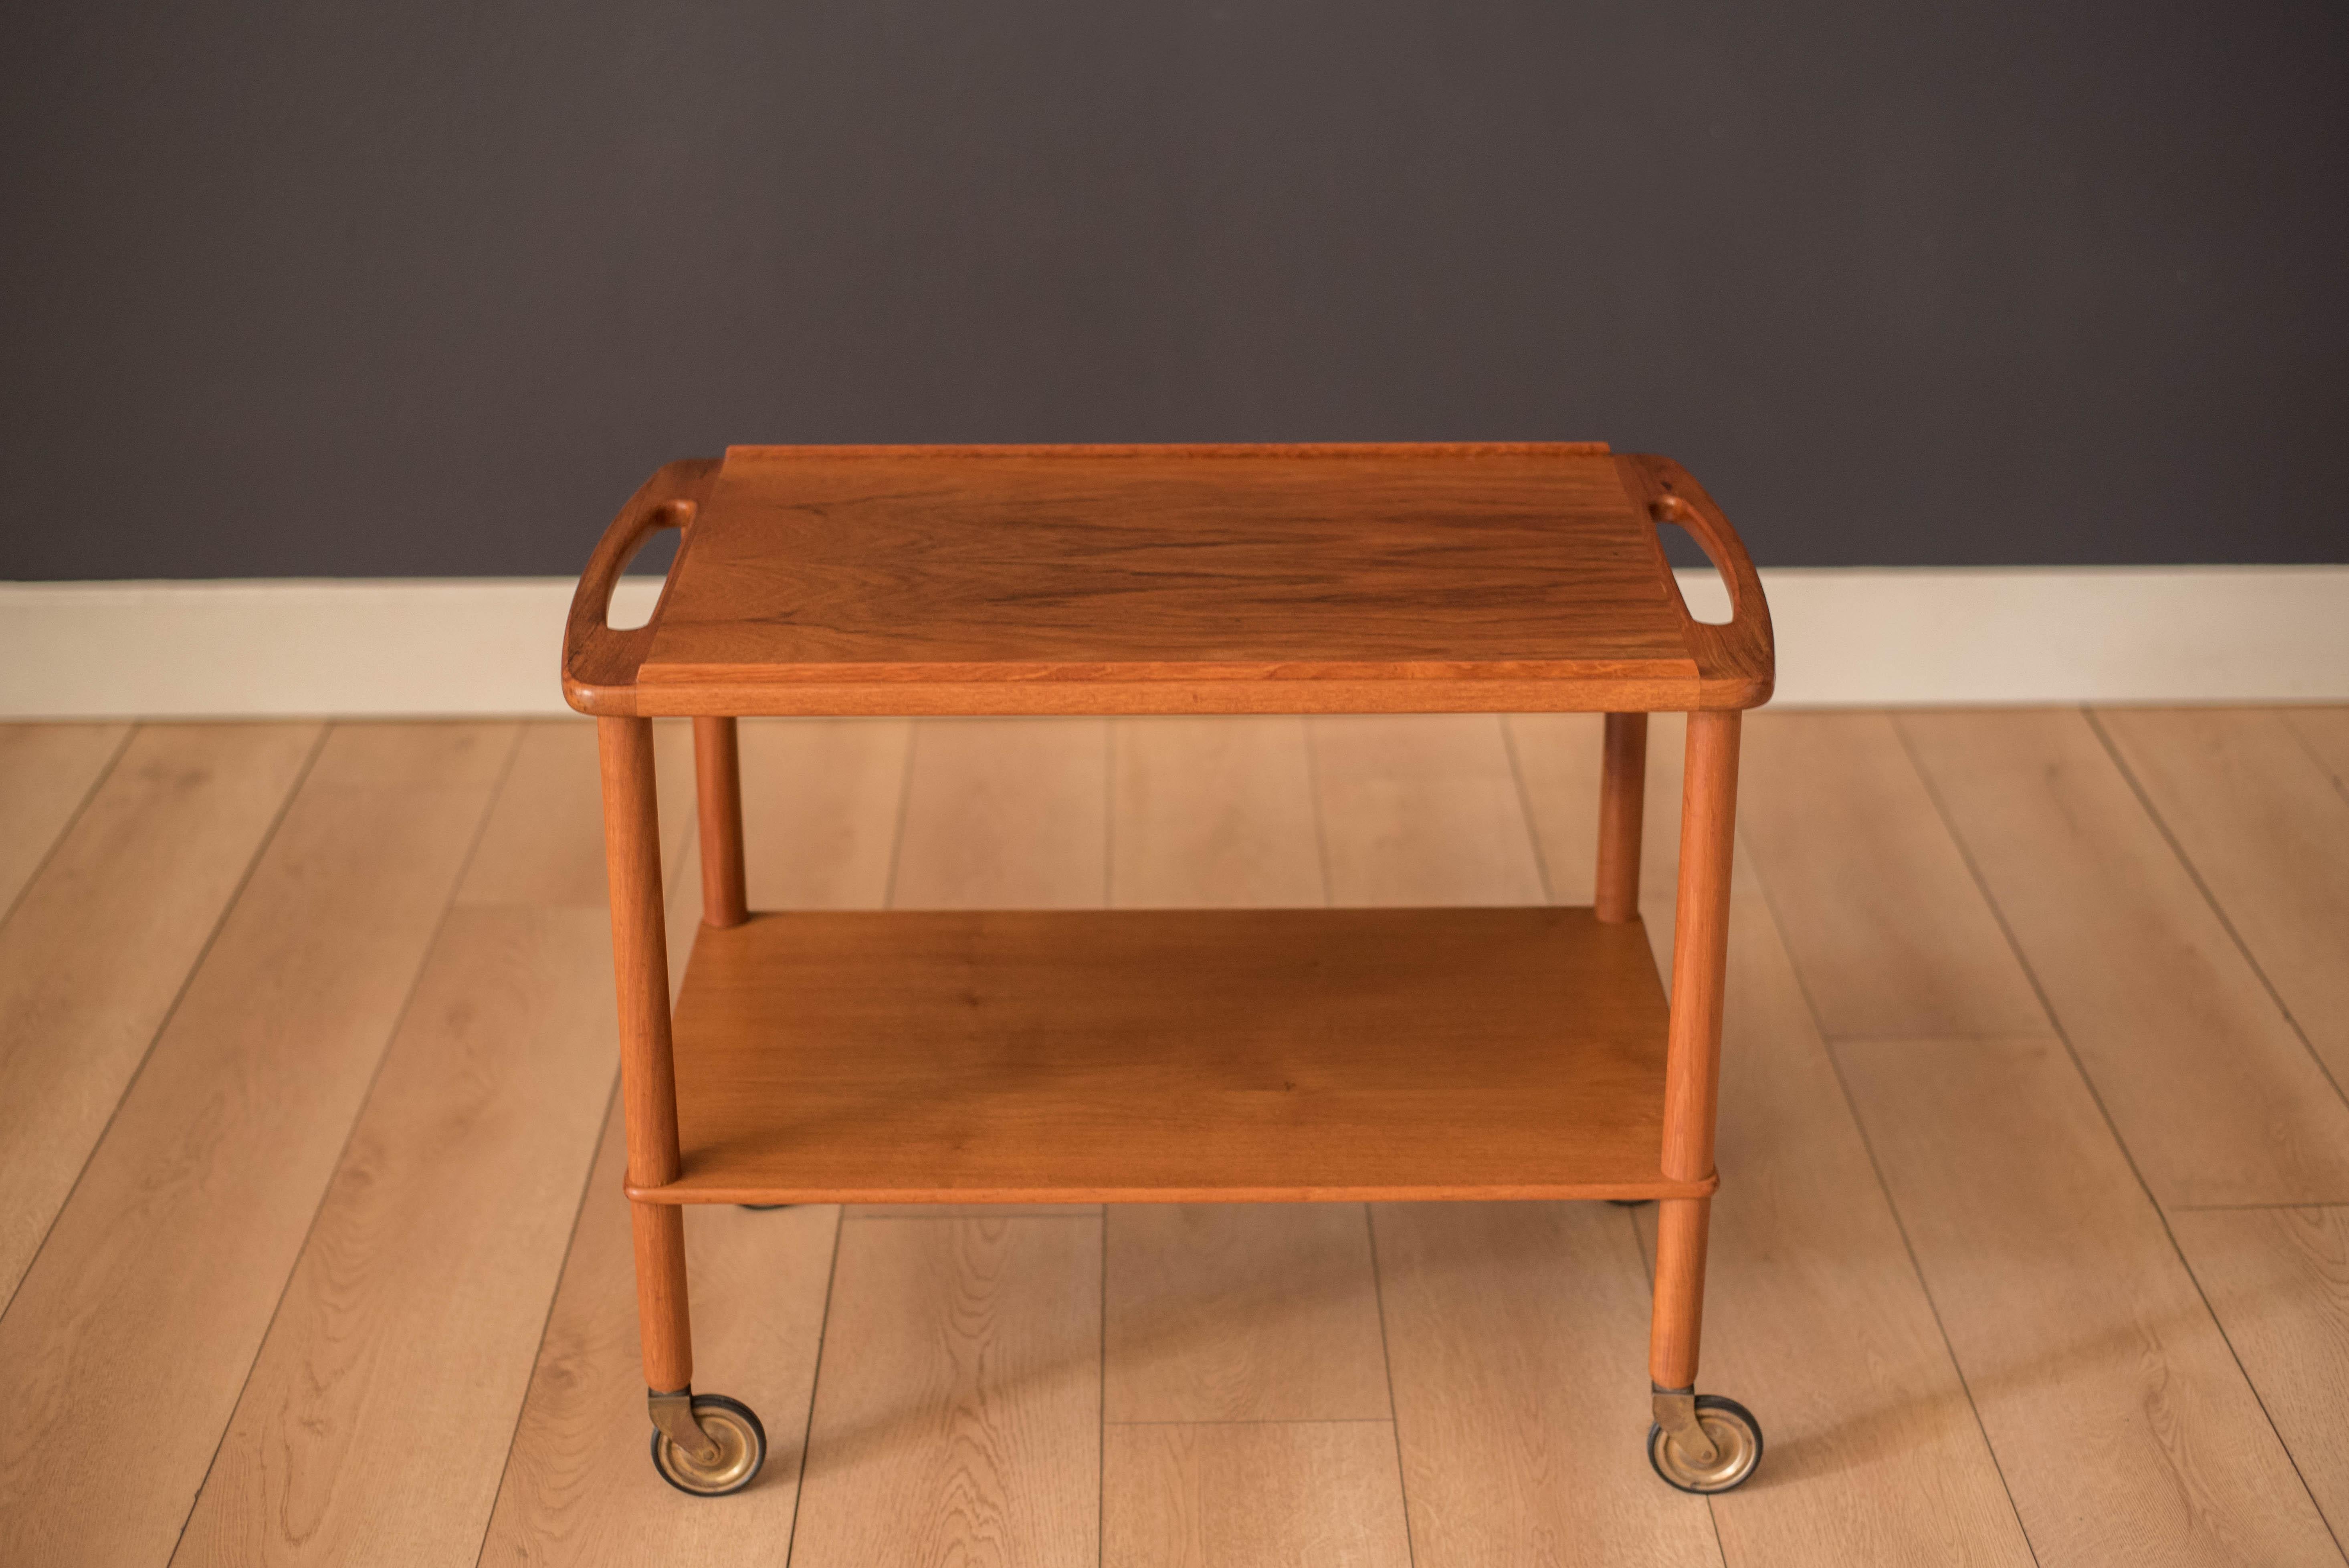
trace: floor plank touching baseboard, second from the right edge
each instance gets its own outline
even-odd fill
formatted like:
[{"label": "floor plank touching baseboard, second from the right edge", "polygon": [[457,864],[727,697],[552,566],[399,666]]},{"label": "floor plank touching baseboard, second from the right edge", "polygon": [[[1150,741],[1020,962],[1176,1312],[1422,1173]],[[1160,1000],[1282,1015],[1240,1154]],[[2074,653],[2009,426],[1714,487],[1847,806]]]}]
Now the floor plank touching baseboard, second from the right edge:
[{"label": "floor plank touching baseboard, second from the right edge", "polygon": [[2274,709],[2098,723],[2335,1084],[2349,1084],[2349,796]]}]

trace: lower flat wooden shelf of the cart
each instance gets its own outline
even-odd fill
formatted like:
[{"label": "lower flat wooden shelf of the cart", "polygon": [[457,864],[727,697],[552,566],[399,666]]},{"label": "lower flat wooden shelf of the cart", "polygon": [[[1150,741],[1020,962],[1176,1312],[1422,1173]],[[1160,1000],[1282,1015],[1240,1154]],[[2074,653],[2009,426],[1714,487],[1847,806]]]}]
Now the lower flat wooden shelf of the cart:
[{"label": "lower flat wooden shelf of the cart", "polygon": [[648,1202],[1696,1197],[1588,908],[763,913],[674,1014]]}]

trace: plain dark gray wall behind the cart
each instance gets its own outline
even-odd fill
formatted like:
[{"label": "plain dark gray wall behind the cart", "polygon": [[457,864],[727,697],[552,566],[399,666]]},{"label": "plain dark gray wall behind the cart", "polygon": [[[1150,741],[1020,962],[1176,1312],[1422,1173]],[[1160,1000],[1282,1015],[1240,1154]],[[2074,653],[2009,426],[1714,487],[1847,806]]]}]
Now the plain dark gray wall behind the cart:
[{"label": "plain dark gray wall behind the cart", "polygon": [[0,16],[0,577],[571,573],[726,441],[1600,437],[1764,563],[2349,556],[2349,7]]}]

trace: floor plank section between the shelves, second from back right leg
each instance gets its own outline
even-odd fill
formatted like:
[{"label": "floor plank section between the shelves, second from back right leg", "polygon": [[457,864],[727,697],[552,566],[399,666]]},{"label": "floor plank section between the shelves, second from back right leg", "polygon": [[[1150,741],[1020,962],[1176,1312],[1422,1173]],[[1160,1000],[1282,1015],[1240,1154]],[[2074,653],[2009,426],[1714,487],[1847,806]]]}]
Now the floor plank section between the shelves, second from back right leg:
[{"label": "floor plank section between the shelves, second from back right leg", "polygon": [[1306,732],[1332,904],[1541,904],[1496,718],[1313,718]]}]

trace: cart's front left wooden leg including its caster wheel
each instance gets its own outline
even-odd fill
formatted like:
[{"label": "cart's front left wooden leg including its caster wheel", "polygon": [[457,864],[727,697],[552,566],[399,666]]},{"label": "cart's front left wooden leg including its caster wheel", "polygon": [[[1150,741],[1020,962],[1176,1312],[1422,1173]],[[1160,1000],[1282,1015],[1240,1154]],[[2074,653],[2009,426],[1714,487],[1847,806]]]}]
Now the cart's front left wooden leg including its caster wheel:
[{"label": "cart's front left wooden leg including its caster wheel", "polygon": [[[677,1063],[669,1047],[669,944],[660,908],[660,819],[653,793],[653,723],[597,718],[604,763],[604,859],[611,871],[611,955],[620,993],[620,1113],[627,1181],[677,1181]],[[686,1225],[677,1204],[632,1204],[644,1387],[653,1415],[653,1469],[679,1491],[721,1495],[749,1486],[766,1462],[766,1432],[742,1404],[693,1392],[686,1312]]]}]

